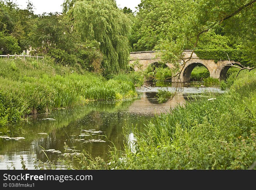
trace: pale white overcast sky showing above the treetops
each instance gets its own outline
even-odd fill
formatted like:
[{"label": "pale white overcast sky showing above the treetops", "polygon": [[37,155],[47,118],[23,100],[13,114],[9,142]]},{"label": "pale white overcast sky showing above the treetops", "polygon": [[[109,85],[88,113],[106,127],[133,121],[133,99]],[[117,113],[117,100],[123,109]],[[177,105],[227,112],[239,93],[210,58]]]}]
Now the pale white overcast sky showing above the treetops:
[{"label": "pale white overcast sky showing above the treetops", "polygon": [[[13,0],[16,2],[20,8],[26,8],[28,0]],[[62,12],[61,4],[63,0],[30,0],[33,3],[34,13],[35,14],[42,14],[43,12]],[[135,11],[135,7],[141,3],[141,0],[116,0],[116,4],[120,8],[130,8],[131,10]]]}]

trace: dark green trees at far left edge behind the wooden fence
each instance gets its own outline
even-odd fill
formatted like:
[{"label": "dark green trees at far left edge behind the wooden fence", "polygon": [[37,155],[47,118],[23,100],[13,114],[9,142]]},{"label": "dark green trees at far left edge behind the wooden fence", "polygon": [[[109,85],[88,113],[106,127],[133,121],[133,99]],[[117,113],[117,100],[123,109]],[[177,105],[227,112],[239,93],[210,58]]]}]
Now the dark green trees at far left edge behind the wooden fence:
[{"label": "dark green trees at far left edge behind the wooden fence", "polygon": [[28,47],[28,34],[35,18],[31,3],[20,9],[13,1],[0,1],[0,53],[19,54]]}]

